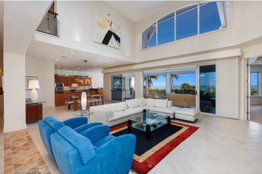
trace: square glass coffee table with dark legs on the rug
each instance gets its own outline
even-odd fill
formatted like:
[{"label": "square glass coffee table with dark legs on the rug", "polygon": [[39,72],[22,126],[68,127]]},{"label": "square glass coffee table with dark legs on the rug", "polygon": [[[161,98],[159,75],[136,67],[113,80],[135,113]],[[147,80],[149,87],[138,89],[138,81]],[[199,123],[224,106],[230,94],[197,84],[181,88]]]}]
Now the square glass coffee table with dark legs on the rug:
[{"label": "square glass coffee table with dark legs on the rug", "polygon": [[127,125],[128,132],[131,132],[132,127],[138,130],[142,130],[143,132],[145,132],[146,138],[149,140],[151,132],[165,124],[167,124],[167,126],[169,127],[171,126],[170,115],[157,113],[157,117],[154,117],[153,113],[146,113],[145,121],[143,120],[143,115],[141,115],[138,117],[130,118]]}]

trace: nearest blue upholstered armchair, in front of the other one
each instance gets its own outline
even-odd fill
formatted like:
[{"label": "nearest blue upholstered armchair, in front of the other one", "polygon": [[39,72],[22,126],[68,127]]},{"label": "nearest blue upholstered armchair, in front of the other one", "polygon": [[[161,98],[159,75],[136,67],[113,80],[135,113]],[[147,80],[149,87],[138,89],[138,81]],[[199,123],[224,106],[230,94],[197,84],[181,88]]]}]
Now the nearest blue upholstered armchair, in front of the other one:
[{"label": "nearest blue upholstered armchair, in front of the other one", "polygon": [[135,144],[135,135],[109,135],[108,125],[93,126],[80,134],[65,126],[51,135],[61,173],[128,173]]}]

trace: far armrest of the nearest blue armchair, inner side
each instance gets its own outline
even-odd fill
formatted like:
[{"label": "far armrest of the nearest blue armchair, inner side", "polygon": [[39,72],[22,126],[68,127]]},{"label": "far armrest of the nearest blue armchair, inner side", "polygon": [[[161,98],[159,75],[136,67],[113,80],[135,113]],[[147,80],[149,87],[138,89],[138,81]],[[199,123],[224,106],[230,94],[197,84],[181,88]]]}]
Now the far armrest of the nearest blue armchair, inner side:
[{"label": "far armrest of the nearest blue armchair, inner side", "polygon": [[109,135],[109,126],[104,124],[93,126],[81,132],[80,135],[88,138],[92,144],[95,144],[102,138]]}]

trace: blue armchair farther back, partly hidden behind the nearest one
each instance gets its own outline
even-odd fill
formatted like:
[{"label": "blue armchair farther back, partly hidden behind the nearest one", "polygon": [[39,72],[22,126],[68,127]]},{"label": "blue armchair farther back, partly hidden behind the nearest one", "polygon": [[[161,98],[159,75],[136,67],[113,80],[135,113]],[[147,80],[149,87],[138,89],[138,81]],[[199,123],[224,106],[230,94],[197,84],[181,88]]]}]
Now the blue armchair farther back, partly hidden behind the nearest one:
[{"label": "blue armchair farther back, partly hidden behind the nearest one", "polygon": [[74,117],[70,118],[68,120],[65,120],[63,122],[55,119],[53,116],[48,116],[45,117],[44,120],[41,120],[38,122],[39,126],[39,132],[40,136],[42,138],[42,141],[46,147],[47,152],[53,159],[54,163],[57,165],[55,162],[55,159],[53,157],[53,151],[51,148],[51,141],[50,141],[50,136],[54,133],[58,132],[58,129],[64,126],[69,126],[74,131],[77,133],[83,132],[83,130],[86,130],[92,126],[95,125],[101,125],[102,123],[89,123],[87,124],[87,118],[86,117]]}]

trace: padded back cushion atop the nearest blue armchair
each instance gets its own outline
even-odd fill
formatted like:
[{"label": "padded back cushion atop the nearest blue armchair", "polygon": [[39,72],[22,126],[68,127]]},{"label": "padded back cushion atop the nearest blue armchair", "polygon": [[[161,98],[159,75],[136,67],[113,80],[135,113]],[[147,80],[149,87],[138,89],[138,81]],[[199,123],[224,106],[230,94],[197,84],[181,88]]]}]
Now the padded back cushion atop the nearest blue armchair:
[{"label": "padded back cushion atop the nearest blue armchair", "polygon": [[58,134],[78,150],[78,154],[83,165],[86,165],[96,156],[91,141],[88,138],[78,134],[70,127],[62,127],[58,130]]}]

